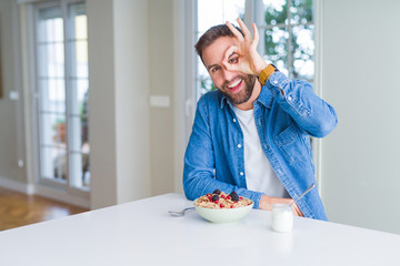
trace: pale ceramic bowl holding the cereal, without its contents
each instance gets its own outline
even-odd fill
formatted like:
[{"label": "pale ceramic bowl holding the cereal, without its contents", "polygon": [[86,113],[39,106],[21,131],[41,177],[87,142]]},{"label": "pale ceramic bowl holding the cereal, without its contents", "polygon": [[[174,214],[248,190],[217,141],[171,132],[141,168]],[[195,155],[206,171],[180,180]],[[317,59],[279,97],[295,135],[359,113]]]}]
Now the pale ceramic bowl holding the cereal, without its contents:
[{"label": "pale ceramic bowl holding the cereal, without its contents", "polygon": [[[197,198],[193,204],[198,201]],[[243,200],[248,200],[243,197]],[[250,200],[251,201],[251,200]],[[194,208],[200,214],[201,217],[212,222],[212,223],[233,223],[250,213],[254,203],[251,201],[251,204],[244,207],[237,208],[207,208],[200,207],[194,204]]]}]

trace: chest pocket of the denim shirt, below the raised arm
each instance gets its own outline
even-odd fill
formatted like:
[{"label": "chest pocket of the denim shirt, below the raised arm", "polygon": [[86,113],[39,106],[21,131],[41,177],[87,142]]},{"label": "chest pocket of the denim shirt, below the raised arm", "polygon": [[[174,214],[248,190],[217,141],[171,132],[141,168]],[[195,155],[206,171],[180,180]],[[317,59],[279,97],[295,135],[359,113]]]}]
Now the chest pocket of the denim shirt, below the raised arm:
[{"label": "chest pocket of the denim shirt, below the raised arm", "polygon": [[274,142],[291,165],[307,158],[307,151],[293,123],[279,133]]}]

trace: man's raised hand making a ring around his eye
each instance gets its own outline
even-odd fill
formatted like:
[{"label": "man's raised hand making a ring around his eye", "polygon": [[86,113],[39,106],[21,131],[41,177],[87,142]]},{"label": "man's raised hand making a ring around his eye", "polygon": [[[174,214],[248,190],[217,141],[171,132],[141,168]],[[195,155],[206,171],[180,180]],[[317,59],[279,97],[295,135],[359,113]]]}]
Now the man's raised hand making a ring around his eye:
[{"label": "man's raised hand making a ring around his eye", "polygon": [[257,51],[259,43],[259,32],[256,23],[252,23],[253,38],[243,21],[239,18],[238,23],[243,31],[244,37],[229,22],[228,28],[238,40],[239,44],[230,47],[223,58],[222,64],[232,71],[240,71],[244,74],[260,75],[261,71],[267,68],[266,61]]}]

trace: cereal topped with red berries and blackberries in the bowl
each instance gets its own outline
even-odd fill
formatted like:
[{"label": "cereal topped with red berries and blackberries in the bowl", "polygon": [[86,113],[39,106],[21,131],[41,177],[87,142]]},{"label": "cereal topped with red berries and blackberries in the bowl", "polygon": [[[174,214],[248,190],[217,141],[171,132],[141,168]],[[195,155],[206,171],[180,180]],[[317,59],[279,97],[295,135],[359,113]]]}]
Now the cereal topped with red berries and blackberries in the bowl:
[{"label": "cereal topped with red berries and blackberries in the bowl", "polygon": [[236,192],[229,195],[216,190],[213,193],[208,193],[194,202],[199,207],[207,208],[238,208],[252,204],[251,200],[239,196]]}]

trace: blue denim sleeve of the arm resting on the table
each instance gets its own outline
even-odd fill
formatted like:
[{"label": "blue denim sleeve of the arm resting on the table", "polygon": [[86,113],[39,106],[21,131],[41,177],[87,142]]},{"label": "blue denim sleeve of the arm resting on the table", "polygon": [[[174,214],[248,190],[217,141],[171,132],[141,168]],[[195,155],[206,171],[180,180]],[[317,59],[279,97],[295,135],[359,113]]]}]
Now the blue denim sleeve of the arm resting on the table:
[{"label": "blue denim sleeve of the arm resting on the table", "polygon": [[187,198],[193,201],[217,188],[227,194],[236,191],[240,196],[252,200],[253,207],[258,208],[262,193],[248,191],[216,177],[216,158],[208,115],[206,101],[200,99],[184,154],[183,190]]}]

